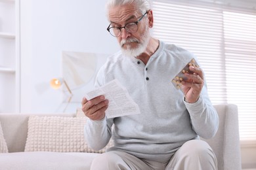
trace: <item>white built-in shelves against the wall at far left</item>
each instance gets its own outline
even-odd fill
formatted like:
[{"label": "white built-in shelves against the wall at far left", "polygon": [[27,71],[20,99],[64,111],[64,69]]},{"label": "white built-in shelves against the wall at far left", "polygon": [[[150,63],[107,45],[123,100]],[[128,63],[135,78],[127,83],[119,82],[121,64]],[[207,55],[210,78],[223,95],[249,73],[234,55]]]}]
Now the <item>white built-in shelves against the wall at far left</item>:
[{"label": "white built-in shelves against the wall at far left", "polygon": [[20,1],[0,0],[0,112],[20,112]]}]

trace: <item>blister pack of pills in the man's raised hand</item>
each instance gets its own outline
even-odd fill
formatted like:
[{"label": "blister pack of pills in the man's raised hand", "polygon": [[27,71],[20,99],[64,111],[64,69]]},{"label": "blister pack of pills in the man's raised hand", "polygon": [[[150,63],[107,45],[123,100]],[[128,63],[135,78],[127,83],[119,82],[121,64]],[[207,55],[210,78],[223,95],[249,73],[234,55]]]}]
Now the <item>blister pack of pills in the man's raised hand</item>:
[{"label": "blister pack of pills in the man's raised hand", "polygon": [[189,70],[190,65],[194,66],[194,67],[199,67],[198,63],[196,63],[196,60],[193,58],[191,59],[187,65],[181,70],[180,73],[178,73],[178,75],[176,75],[171,82],[173,83],[173,86],[175,86],[175,88],[177,88],[178,90],[181,89],[181,81],[182,80],[186,80],[186,76],[184,76],[184,73],[193,73],[192,71]]}]

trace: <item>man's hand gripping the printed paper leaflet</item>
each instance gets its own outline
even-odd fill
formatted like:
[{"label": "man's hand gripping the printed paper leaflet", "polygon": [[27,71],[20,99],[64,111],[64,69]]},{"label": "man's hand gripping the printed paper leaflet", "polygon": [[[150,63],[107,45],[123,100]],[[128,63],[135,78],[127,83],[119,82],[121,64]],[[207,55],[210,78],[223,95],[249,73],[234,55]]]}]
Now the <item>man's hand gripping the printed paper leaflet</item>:
[{"label": "man's hand gripping the printed paper leaflet", "polygon": [[91,100],[83,97],[81,104],[83,113],[91,120],[102,120],[105,117],[108,100],[105,99],[104,95],[99,95]]}]

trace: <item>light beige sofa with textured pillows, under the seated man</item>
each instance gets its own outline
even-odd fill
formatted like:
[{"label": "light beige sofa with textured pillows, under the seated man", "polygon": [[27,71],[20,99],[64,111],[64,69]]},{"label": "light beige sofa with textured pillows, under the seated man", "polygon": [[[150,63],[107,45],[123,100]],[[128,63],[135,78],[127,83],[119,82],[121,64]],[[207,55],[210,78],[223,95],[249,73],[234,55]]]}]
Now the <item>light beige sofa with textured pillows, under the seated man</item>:
[{"label": "light beige sofa with textured pillows, under the seated man", "polygon": [[[215,109],[219,130],[213,139],[203,140],[213,148],[219,170],[241,169],[238,108],[224,104],[215,105]],[[81,135],[87,118],[77,115],[1,113],[0,169],[90,169],[93,158],[113,143],[100,151],[89,148]]]}]

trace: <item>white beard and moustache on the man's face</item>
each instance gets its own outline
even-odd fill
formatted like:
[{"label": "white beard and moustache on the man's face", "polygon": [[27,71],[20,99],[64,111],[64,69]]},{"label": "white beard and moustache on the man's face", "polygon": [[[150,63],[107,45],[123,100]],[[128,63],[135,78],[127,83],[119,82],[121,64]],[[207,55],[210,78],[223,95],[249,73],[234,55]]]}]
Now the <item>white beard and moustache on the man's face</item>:
[{"label": "white beard and moustache on the man's face", "polygon": [[123,44],[125,44],[126,42],[137,42],[138,47],[131,48],[131,45],[126,44],[127,49],[121,48],[121,52],[124,56],[127,56],[129,58],[136,58],[146,50],[146,47],[148,46],[149,41],[150,41],[150,31],[148,26],[146,25],[146,30],[142,35],[141,41],[139,41],[139,39],[136,39],[136,38],[129,38],[129,39],[122,40],[120,42],[121,46],[123,46]]}]

